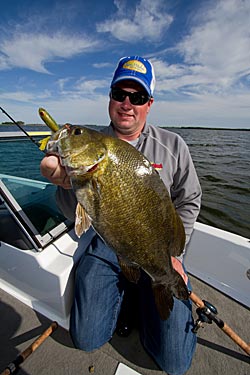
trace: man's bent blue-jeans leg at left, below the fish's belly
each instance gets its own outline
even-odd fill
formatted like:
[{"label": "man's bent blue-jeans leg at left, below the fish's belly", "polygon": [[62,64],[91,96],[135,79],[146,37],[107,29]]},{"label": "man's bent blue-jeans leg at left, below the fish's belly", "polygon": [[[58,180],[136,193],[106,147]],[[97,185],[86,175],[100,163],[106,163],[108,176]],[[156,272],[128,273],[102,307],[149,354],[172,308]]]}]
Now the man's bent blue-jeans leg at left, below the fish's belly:
[{"label": "man's bent blue-jeans leg at left, below the fish's belly", "polygon": [[70,314],[70,334],[76,348],[93,351],[112,338],[122,295],[119,274],[106,261],[86,256],[77,269]]}]

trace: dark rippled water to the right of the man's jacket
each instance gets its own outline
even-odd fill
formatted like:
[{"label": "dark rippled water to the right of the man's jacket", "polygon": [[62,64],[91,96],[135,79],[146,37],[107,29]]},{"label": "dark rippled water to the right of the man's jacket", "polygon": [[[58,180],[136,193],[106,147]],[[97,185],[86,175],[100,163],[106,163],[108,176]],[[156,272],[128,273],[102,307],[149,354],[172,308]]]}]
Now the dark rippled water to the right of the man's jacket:
[{"label": "dark rippled water to the right of the man's jacket", "polygon": [[198,220],[250,237],[250,131],[174,129],[187,142],[202,187]]}]

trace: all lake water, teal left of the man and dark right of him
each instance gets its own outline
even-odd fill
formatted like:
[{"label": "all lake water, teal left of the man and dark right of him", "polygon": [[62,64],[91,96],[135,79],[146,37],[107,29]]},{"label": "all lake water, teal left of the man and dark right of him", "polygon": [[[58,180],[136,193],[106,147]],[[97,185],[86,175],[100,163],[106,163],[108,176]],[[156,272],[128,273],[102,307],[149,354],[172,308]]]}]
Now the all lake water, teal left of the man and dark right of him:
[{"label": "all lake water, teal left of the man and dark right of him", "polygon": [[[1,130],[6,131],[2,126]],[[186,141],[196,166],[203,191],[198,221],[249,238],[250,131],[170,130]],[[0,173],[44,181],[39,169],[42,157],[28,139],[0,141]]]}]

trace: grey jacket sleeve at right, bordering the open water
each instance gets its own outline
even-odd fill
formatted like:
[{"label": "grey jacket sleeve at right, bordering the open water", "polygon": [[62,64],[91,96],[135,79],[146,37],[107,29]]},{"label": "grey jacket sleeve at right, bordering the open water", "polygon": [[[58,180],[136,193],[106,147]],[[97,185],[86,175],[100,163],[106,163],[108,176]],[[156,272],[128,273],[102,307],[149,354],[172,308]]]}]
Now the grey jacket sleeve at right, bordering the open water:
[{"label": "grey jacket sleeve at right, bordering the open water", "polygon": [[178,166],[170,193],[176,211],[182,219],[187,244],[200,212],[202,192],[188,146],[184,141],[179,150]]}]

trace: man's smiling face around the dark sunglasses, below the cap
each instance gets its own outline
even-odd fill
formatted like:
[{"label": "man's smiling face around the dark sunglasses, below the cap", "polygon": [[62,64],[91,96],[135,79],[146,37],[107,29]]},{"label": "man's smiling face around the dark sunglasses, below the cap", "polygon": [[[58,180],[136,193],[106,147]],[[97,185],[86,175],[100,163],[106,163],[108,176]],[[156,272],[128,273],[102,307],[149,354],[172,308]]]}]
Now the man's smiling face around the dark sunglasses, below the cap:
[{"label": "man's smiling face around the dark sunglasses, below the cap", "polygon": [[[115,87],[128,92],[143,91],[139,83],[130,80],[118,82]],[[117,132],[123,135],[141,132],[153,101],[154,99],[151,98],[146,104],[133,105],[130,103],[128,96],[123,102],[110,98],[109,116]]]}]

